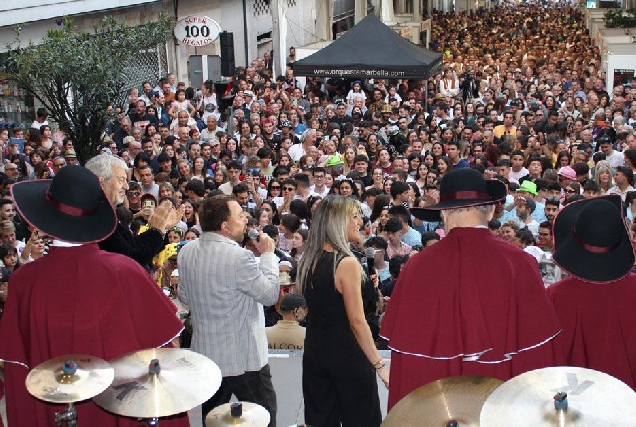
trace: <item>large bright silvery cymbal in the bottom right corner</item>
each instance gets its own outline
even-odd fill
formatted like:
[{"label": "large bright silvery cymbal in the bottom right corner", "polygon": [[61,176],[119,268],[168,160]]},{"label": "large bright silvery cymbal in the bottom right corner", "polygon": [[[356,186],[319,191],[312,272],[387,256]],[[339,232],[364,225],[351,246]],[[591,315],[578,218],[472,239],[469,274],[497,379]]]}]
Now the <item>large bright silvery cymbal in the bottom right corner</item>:
[{"label": "large bright silvery cymbal in the bottom right corner", "polygon": [[[567,394],[567,410],[555,409]],[[558,366],[516,376],[497,388],[481,411],[486,427],[634,425],[636,393],[624,382],[593,369]]]}]

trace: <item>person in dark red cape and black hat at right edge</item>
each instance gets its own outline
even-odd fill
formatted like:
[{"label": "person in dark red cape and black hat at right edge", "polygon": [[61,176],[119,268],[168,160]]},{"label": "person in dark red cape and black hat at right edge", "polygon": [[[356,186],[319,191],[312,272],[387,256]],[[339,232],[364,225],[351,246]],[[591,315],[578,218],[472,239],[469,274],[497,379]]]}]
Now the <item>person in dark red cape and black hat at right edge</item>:
[{"label": "person in dark red cape and black hat at right edge", "polygon": [[636,274],[622,209],[612,195],[559,212],[553,259],[571,276],[547,293],[563,325],[557,362],[605,372],[636,391]]}]

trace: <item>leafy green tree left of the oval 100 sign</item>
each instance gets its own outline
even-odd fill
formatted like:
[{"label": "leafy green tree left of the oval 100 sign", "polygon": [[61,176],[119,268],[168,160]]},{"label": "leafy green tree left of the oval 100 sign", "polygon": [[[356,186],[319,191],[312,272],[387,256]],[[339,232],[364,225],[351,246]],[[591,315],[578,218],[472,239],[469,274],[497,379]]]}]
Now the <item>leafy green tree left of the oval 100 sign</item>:
[{"label": "leafy green tree left of the oval 100 sign", "polygon": [[135,53],[165,43],[173,24],[159,15],[156,22],[127,27],[108,16],[89,32],[64,18],[38,45],[20,47],[18,30],[5,67],[49,111],[85,161],[97,153],[111,118],[108,107],[124,100],[124,66]]}]

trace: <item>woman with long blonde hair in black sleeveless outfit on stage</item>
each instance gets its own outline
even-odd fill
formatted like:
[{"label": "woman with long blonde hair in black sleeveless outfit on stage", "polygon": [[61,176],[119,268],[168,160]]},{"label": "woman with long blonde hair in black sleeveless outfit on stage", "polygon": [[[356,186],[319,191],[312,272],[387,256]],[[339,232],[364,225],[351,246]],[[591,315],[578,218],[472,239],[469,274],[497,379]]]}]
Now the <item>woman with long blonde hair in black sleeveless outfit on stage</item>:
[{"label": "woman with long blonde hair in black sleeveless outfit on stage", "polygon": [[389,386],[362,303],[362,267],[349,248],[360,239],[357,201],[326,197],[312,217],[298,266],[300,290],[309,308],[303,394],[309,425],[379,426],[376,372]]}]

